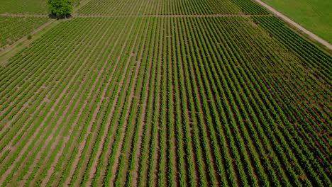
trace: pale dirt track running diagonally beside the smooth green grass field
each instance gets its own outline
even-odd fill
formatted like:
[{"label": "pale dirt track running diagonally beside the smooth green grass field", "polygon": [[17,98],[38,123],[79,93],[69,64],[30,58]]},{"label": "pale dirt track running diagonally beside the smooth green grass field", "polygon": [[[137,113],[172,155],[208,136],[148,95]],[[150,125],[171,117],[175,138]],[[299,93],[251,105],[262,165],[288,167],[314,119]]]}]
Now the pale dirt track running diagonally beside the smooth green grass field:
[{"label": "pale dirt track running diagonally beside the smooth green grass field", "polygon": [[332,50],[332,45],[329,42],[326,42],[326,40],[323,40],[318,35],[315,35],[314,33],[311,33],[309,30],[306,30],[304,27],[302,27],[298,23],[292,21],[287,16],[284,16],[279,11],[276,11],[275,8],[272,8],[271,6],[268,6],[267,4],[265,4],[264,2],[262,2],[260,0],[255,0],[255,1],[257,1],[259,4],[261,4],[262,6],[267,8],[269,11],[271,11],[273,14],[275,14],[275,16],[277,16],[279,18],[282,18],[282,20],[286,21],[287,23],[291,24],[295,28],[297,28],[297,29],[301,30],[302,32],[306,33],[307,35],[309,35],[311,38],[313,38],[317,42],[320,42],[321,44],[325,45],[326,47],[328,47],[329,50]]}]

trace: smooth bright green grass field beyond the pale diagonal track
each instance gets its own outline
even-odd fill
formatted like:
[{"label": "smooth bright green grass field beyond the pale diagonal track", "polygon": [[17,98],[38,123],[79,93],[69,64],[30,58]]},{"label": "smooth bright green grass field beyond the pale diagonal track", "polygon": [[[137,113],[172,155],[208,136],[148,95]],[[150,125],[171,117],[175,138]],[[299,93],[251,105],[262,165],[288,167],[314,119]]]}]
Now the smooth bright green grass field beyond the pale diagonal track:
[{"label": "smooth bright green grass field beyond the pale diagonal track", "polygon": [[304,28],[332,43],[332,1],[262,0]]}]

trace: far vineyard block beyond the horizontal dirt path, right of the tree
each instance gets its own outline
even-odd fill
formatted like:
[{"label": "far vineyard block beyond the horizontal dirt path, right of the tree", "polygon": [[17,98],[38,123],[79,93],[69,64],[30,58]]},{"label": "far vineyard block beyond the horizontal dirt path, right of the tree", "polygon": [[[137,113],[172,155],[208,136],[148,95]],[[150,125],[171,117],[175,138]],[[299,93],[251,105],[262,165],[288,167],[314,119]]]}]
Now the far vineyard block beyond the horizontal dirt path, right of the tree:
[{"label": "far vineyard block beyond the horizontal dirt path, right of the tree", "polygon": [[251,0],[91,0],[78,10],[79,15],[197,15],[268,14]]}]

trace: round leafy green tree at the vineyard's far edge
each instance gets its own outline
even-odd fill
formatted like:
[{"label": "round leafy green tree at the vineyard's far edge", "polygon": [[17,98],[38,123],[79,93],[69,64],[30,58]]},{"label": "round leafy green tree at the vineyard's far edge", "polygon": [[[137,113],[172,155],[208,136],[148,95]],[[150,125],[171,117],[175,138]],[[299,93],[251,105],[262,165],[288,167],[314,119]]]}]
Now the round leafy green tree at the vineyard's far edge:
[{"label": "round leafy green tree at the vineyard's far edge", "polygon": [[72,0],[48,0],[52,16],[67,18],[72,13]]}]

